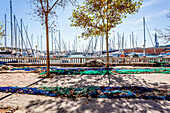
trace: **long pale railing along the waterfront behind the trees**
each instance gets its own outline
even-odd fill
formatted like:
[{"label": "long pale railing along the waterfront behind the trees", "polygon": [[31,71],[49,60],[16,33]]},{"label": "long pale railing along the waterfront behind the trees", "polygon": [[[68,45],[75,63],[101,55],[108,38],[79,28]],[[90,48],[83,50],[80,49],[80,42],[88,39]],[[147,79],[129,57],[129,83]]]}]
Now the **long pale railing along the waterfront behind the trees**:
[{"label": "long pale railing along the waterfront behind the trees", "polygon": [[[70,64],[81,64],[85,63],[88,60],[102,60],[106,63],[106,57],[84,57],[84,58],[50,58],[51,64],[62,64],[62,63],[70,63]],[[11,62],[16,61],[17,63],[32,63],[32,64],[46,64],[46,58],[39,57],[24,57],[24,58],[0,58],[2,62]],[[170,63],[170,57],[168,58],[130,58],[130,57],[109,57],[110,64],[131,64],[131,63],[149,63],[151,61],[158,62],[168,62]]]}]

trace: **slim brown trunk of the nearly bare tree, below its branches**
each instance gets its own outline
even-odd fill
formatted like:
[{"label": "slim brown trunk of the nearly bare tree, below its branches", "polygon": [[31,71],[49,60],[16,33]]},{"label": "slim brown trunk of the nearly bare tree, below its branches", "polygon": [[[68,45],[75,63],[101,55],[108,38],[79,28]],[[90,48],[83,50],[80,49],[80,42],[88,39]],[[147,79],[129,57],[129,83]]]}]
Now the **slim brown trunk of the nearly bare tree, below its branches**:
[{"label": "slim brown trunk of the nearly bare tree, below its branches", "polygon": [[50,75],[50,55],[49,55],[49,40],[48,40],[48,13],[45,13],[45,27],[46,27],[46,46],[47,46],[47,76]]}]

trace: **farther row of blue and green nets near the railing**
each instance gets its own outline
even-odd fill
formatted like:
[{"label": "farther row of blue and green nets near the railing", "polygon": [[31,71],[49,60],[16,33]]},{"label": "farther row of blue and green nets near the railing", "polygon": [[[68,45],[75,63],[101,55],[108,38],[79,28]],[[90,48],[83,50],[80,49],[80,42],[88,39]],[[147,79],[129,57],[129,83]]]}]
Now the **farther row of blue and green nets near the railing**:
[{"label": "farther row of blue and green nets near the railing", "polygon": [[[25,70],[25,71],[35,71],[37,69],[41,69],[42,73],[40,75],[46,74],[46,67],[23,67],[23,68],[13,68],[14,70]],[[50,74],[57,75],[105,75],[105,74],[113,74],[112,72],[116,72],[119,74],[141,74],[141,73],[164,73],[170,74],[170,68],[154,68],[154,69],[114,69],[114,68],[57,68],[51,67]]]}]

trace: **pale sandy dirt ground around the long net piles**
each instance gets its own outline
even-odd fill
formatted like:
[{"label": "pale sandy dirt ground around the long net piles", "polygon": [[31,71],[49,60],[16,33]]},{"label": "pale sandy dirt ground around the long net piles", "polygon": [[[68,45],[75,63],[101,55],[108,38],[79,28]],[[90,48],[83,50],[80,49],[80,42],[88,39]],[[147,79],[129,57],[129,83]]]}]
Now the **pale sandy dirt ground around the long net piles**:
[{"label": "pale sandy dirt ground around the long net piles", "polygon": [[[58,75],[1,73],[0,86],[143,86],[170,89],[170,74]],[[144,99],[78,98],[76,100],[28,94],[0,93],[0,105],[19,107],[15,113],[170,113],[170,101]]]}]

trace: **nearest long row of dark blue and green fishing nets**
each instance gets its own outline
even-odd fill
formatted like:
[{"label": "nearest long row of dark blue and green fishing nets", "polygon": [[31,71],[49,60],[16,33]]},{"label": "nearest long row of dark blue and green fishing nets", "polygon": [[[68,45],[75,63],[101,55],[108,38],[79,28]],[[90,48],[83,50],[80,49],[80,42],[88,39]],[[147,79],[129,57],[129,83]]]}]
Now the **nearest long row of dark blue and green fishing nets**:
[{"label": "nearest long row of dark blue and green fishing nets", "polygon": [[139,98],[158,99],[170,101],[170,91],[158,90],[147,87],[103,87],[89,86],[78,88],[67,87],[40,87],[40,88],[20,88],[20,87],[0,87],[0,92],[11,92],[20,94],[64,96],[68,98],[94,97],[94,98]]}]

